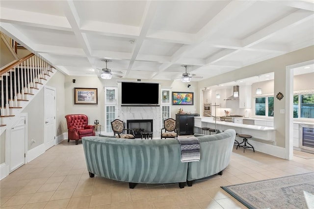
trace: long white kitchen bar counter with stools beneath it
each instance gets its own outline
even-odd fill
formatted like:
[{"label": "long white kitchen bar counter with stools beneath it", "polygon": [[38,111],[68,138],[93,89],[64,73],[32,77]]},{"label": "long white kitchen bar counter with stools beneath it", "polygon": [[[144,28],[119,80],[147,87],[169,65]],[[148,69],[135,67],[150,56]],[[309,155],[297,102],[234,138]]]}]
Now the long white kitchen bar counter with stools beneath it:
[{"label": "long white kitchen bar counter with stools beneath it", "polygon": [[194,117],[194,127],[209,127],[212,129],[215,129],[216,127],[216,129],[222,131],[234,129],[236,133],[252,135],[252,140],[262,140],[268,141],[269,144],[272,145],[276,144],[275,129],[273,127],[238,124],[218,120],[215,122],[213,117]]}]

